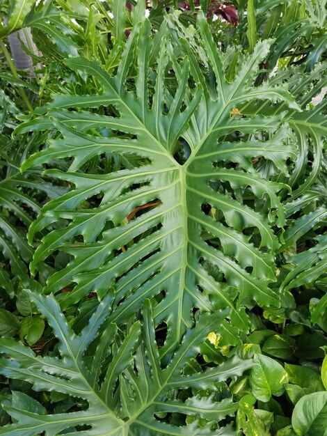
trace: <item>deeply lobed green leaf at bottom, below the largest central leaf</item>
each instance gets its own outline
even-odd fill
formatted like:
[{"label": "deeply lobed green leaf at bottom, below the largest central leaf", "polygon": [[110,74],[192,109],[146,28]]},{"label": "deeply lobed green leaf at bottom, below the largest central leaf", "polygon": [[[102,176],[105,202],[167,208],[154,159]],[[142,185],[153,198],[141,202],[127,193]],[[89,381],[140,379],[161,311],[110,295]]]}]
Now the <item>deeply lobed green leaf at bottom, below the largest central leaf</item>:
[{"label": "deeply lobed green leaf at bottom, below the largest central leaf", "polygon": [[[47,318],[58,338],[58,357],[35,356],[30,348],[11,338],[0,340],[0,373],[13,379],[26,380],[35,391],[56,391],[86,400],[83,410],[44,414],[43,410],[19,407],[14,398],[3,408],[15,423],[0,429],[0,435],[33,436],[45,432],[58,435],[63,430],[79,435],[232,435],[231,429],[218,433],[200,428],[198,423],[177,427],[161,423],[154,414],[170,412],[221,421],[232,416],[237,404],[232,398],[214,400],[213,382],[241,375],[252,366],[251,361],[237,357],[207,371],[183,375],[186,362],[197,355],[207,334],[221,325],[228,311],[200,316],[196,327],[188,329],[182,344],[166,368],[161,368],[159,350],[155,341],[150,302],[143,306],[143,322],[134,322],[121,340],[114,325],[99,334],[110,313],[112,295],[106,295],[91,316],[88,325],[77,336],[68,327],[53,296],[29,293],[40,313]],[[101,330],[100,330],[101,332]],[[99,336],[100,335],[100,336]],[[98,338],[99,336],[99,338]],[[95,347],[92,345],[95,341]],[[92,359],[88,349],[93,347]],[[115,351],[114,351],[115,350]],[[8,359],[10,357],[10,359]],[[208,396],[190,396],[185,403],[174,400],[176,389],[209,388]],[[81,430],[88,425],[92,430]],[[75,430],[74,430],[75,429]],[[90,433],[91,432],[91,433]],[[129,433],[130,432],[130,433]],[[67,433],[67,432],[66,432]]]}]

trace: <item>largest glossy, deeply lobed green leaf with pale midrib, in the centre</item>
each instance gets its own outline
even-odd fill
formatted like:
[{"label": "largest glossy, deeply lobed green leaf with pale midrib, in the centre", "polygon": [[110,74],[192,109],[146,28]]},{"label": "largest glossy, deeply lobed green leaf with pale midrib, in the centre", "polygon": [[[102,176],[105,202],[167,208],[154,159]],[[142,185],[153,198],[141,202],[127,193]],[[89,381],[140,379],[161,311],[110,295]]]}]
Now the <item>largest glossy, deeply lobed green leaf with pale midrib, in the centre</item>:
[{"label": "largest glossy, deeply lobed green leaf with pale midrib, in the centre", "polygon": [[[28,159],[24,170],[72,157],[67,172],[47,171],[74,188],[49,202],[31,226],[29,238],[33,240],[50,224],[67,220],[65,228],[43,238],[31,264],[33,274],[55,250],[67,252],[71,262],[49,278],[45,292],[58,293],[75,283],[62,300],[65,308],[93,291],[103,296],[112,286],[113,322],[125,322],[145,297],[162,295],[154,310],[156,325],[168,324],[161,357],[170,355],[191,325],[193,306],[204,311],[228,306],[234,326],[246,331],[248,320],[241,308],[245,300],[278,305],[278,295],[269,288],[276,280],[273,252],[279,245],[273,226],[285,224],[276,193],[287,185],[262,177],[251,159],[265,156],[285,171],[287,157],[296,155],[287,125],[281,127],[282,116],[233,115],[234,107],[252,100],[282,100],[292,111],[298,108],[284,85],[253,85],[269,42],[255,47],[229,83],[201,14],[198,27],[202,56],[212,66],[215,86],[200,70],[197,49],[193,51],[185,43],[187,56],[177,58],[172,45],[176,42],[166,38],[154,73],[148,63],[153,47],[149,22],[145,21],[129,36],[114,77],[96,62],[66,61],[73,70],[92,76],[101,84],[102,93],[56,95],[48,114],[17,130],[55,127],[62,135]],[[130,68],[134,54],[136,77]],[[166,86],[167,68],[178,83],[174,93]],[[127,88],[129,75],[134,79],[129,79]],[[193,88],[191,79],[196,84]],[[154,86],[151,100],[150,84]],[[119,116],[93,113],[92,108],[103,105],[109,110],[112,105]],[[175,159],[183,141],[190,148],[185,163]],[[107,152],[136,154],[143,165],[113,173],[88,173],[90,159]],[[244,190],[249,201],[239,200],[237,192]],[[79,208],[82,201],[98,195],[102,196],[98,208]],[[267,205],[264,212],[261,199]],[[128,219],[139,207],[146,207],[145,212]],[[79,235],[83,245],[73,242]],[[209,273],[208,265],[223,275],[221,283]]]}]

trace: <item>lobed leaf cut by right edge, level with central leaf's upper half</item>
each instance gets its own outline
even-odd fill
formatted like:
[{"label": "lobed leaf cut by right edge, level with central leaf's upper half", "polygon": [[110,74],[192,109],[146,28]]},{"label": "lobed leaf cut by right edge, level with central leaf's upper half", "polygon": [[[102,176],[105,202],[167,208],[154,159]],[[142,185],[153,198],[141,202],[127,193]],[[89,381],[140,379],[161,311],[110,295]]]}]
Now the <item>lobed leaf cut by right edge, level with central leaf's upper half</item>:
[{"label": "lobed leaf cut by right edge, level with central leaf's upper half", "polygon": [[[294,205],[299,196],[304,196],[308,189],[317,182],[321,172],[323,160],[324,139],[327,137],[326,107],[327,100],[324,98],[319,104],[307,110],[308,104],[312,99],[319,95],[321,89],[327,84],[326,62],[317,64],[310,73],[303,74],[303,66],[289,68],[287,71],[280,70],[276,75],[269,79],[271,86],[277,85],[281,80],[289,82],[290,91],[295,96],[296,101],[303,111],[289,111],[285,114],[285,120],[289,121],[292,131],[296,135],[298,155],[296,164],[292,170],[289,185],[293,192],[289,198],[289,205]],[[242,111],[252,116],[256,114],[276,115],[287,109],[285,103],[271,105],[270,102],[257,104],[248,103]],[[281,179],[282,180],[282,179]],[[324,189],[326,194],[326,189]],[[286,204],[286,208],[287,208]],[[287,215],[290,215],[287,211]]]}]

